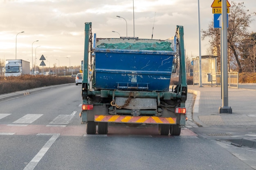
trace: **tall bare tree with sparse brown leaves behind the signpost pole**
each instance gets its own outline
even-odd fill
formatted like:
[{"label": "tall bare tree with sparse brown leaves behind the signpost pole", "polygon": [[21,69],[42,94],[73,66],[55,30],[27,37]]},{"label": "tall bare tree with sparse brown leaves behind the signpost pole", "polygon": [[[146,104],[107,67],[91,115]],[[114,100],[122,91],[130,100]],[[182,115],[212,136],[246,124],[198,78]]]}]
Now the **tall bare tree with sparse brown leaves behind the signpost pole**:
[{"label": "tall bare tree with sparse brown leaves behind the signpost pole", "polygon": [[[236,61],[236,64],[229,64],[236,66],[238,72],[243,72],[241,56],[239,53],[243,51],[244,39],[249,35],[247,29],[249,28],[249,24],[252,22],[252,16],[256,15],[255,12],[247,14],[249,10],[245,10],[245,6],[243,4],[243,2],[231,2],[229,27],[227,29],[228,48],[230,49],[229,61]],[[202,33],[202,39],[206,37],[211,38],[209,43],[211,44],[213,55],[220,56],[220,30],[213,28],[213,22],[211,22],[208,30],[203,30]]]}]

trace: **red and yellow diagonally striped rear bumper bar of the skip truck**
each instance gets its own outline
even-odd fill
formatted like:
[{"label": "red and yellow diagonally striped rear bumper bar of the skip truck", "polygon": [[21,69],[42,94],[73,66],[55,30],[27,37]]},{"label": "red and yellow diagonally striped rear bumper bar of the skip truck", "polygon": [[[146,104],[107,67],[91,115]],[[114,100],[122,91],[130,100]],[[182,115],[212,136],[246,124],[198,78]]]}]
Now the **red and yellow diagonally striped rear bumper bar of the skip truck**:
[{"label": "red and yellow diagonally striped rear bumper bar of the skip truck", "polygon": [[176,124],[175,117],[94,115],[95,122]]}]

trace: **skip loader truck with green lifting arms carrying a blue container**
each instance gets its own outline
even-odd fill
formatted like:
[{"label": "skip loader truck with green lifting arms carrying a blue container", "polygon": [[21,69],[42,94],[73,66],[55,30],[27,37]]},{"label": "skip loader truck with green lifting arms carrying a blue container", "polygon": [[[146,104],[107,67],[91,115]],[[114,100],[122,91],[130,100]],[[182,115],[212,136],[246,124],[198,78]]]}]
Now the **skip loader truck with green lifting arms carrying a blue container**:
[{"label": "skip loader truck with green lifting arms carrying a blue container", "polygon": [[[183,26],[171,36],[97,38],[92,23],[85,23],[79,115],[87,134],[107,134],[109,124],[120,123],[150,124],[158,126],[159,135],[180,135],[187,119]],[[176,70],[179,81],[172,86]]]}]

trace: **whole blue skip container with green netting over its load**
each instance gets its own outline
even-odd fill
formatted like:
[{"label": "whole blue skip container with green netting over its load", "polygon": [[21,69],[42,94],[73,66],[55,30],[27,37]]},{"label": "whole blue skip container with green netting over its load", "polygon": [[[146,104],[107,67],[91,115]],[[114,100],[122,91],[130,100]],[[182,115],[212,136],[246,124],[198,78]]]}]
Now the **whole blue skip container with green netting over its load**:
[{"label": "whole blue skip container with green netting over its load", "polygon": [[96,39],[95,89],[169,91],[174,40]]}]

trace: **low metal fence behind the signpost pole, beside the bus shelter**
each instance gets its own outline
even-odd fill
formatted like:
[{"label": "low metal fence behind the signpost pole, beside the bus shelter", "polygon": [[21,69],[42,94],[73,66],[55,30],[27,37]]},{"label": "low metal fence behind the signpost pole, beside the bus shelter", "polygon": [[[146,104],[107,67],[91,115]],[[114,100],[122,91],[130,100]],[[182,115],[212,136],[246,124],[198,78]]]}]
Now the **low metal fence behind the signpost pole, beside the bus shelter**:
[{"label": "low metal fence behind the signpost pole, beside the bus shelter", "polygon": [[[238,89],[238,72],[228,72],[228,87],[237,88]],[[221,85],[221,74],[220,72],[216,72],[216,86]]]}]

